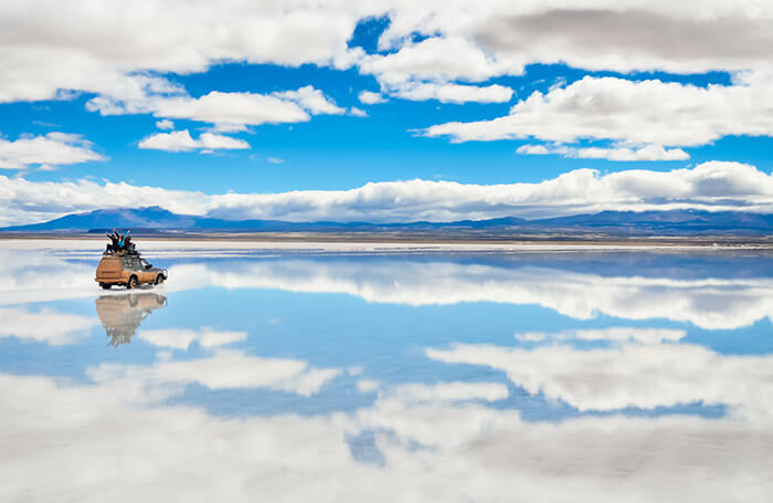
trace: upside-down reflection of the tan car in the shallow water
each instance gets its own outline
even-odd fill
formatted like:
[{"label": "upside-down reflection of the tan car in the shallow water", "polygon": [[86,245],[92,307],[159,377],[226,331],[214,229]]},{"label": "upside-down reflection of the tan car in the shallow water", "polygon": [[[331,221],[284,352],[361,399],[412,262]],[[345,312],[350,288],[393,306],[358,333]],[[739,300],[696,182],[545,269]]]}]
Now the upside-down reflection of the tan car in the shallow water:
[{"label": "upside-down reflection of the tan car in the shallow water", "polygon": [[108,346],[129,344],[140,323],[156,310],[167,306],[167,297],[157,293],[103,295],[94,301],[97,315],[110,338]]}]

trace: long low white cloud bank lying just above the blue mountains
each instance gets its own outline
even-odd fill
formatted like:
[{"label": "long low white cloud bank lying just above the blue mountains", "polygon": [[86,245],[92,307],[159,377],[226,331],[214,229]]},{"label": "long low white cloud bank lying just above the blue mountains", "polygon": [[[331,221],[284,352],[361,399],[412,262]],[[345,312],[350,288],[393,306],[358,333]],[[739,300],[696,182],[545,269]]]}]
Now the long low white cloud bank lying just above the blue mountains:
[{"label": "long low white cloud bank lying just above the blue mountains", "polygon": [[7,224],[97,208],[155,205],[179,213],[287,221],[454,221],[603,210],[770,213],[773,176],[750,165],[709,161],[670,171],[635,169],[602,175],[579,169],[534,184],[407,180],[370,182],[349,190],[223,195],[92,180],[34,182],[0,176],[0,202],[7,208],[2,216]]}]

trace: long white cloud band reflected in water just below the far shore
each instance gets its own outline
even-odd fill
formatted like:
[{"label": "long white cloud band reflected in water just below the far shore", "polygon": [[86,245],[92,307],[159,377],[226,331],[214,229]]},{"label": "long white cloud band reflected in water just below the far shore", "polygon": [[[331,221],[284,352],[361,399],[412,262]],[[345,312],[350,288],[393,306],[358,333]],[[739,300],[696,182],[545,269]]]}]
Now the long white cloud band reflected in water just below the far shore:
[{"label": "long white cloud band reflected in water just below the far shore", "polygon": [[[250,260],[191,259],[171,265],[170,282],[157,290],[277,289],[349,294],[373,303],[412,306],[472,302],[539,305],[576,319],[600,314],[627,319],[667,318],[707,329],[739,328],[773,317],[773,277],[770,259],[764,254],[753,262],[738,256],[729,260],[721,253],[508,256],[511,260],[498,262],[486,254],[457,259],[370,255],[366,260],[289,253]],[[689,259],[695,256],[700,261],[690,264]],[[0,305],[92,296],[97,292],[92,265],[13,249],[0,250]],[[647,266],[637,265],[643,259]],[[675,275],[677,272],[679,275]]]}]

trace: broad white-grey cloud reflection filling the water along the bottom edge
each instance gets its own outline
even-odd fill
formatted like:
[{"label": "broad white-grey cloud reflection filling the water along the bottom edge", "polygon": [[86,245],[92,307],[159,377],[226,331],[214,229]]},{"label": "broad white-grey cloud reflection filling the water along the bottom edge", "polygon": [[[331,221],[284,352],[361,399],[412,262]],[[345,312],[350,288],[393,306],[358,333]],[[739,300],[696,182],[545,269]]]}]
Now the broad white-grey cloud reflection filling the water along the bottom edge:
[{"label": "broad white-grey cloud reflection filling the water along the bottom edge", "polygon": [[[222,369],[227,373],[227,369]],[[526,421],[459,402],[239,418],[157,405],[129,380],[0,375],[3,500],[766,501],[770,423],[687,416]],[[150,406],[149,406],[150,405]],[[56,420],[51,420],[56,418]],[[370,432],[383,463],[347,442]],[[163,455],[148,455],[163,453]],[[98,473],[88,467],[120,467]],[[690,476],[685,476],[689,467]],[[40,483],[46,473],[46,483]],[[569,495],[569,496],[568,496]],[[522,497],[521,497],[522,496]]]}]

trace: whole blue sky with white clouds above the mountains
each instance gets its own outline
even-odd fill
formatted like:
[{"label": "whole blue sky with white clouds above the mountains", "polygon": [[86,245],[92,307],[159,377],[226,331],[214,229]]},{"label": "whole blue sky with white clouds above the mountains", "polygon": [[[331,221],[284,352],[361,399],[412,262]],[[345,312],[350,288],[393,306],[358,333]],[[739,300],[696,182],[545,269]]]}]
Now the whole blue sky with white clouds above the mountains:
[{"label": "whole blue sky with white clouds above the mountains", "polygon": [[773,3],[0,3],[0,226],[773,212]]}]

